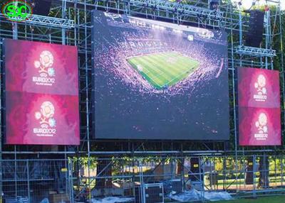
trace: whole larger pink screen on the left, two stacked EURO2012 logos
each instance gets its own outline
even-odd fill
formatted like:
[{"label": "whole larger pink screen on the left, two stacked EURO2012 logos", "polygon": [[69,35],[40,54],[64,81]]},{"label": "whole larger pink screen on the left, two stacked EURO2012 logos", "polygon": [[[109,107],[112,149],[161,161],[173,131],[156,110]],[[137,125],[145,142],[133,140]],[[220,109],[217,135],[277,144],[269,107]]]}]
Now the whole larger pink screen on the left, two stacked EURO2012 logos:
[{"label": "whole larger pink screen on the left, two stacked EURO2012 logos", "polygon": [[6,144],[79,145],[74,46],[4,40]]}]

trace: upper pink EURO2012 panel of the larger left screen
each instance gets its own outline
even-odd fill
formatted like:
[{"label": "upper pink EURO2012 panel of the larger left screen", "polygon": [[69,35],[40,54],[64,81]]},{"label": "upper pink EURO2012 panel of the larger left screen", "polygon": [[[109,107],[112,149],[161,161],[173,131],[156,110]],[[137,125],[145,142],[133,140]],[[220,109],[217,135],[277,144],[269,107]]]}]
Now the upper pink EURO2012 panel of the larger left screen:
[{"label": "upper pink EURO2012 panel of the larger left screen", "polygon": [[78,95],[74,46],[5,40],[6,91]]}]

